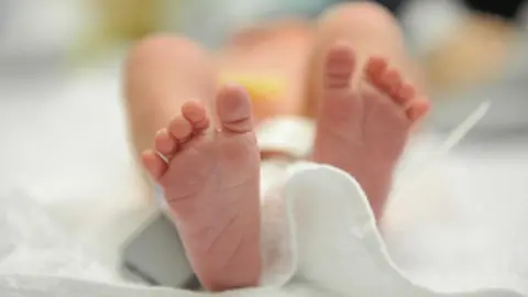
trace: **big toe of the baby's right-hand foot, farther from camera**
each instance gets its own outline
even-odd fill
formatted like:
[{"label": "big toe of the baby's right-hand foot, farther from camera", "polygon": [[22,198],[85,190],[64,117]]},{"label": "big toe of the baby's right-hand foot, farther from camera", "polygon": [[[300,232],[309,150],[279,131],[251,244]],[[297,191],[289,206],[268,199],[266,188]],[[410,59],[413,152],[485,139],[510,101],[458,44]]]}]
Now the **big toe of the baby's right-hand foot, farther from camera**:
[{"label": "big toe of the baby's right-hand foot, farther from camera", "polygon": [[356,65],[355,54],[346,43],[337,43],[327,53],[324,61],[324,87],[348,88]]}]

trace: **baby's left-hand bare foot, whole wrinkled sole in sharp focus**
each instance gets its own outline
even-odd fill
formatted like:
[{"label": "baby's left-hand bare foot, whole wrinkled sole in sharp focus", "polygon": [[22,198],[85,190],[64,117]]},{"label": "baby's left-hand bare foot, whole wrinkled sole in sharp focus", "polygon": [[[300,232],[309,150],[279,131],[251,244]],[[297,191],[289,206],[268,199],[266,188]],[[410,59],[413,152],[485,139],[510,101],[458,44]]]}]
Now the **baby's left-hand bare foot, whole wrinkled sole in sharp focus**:
[{"label": "baby's left-hand bare foot, whole wrinkled sole in sharp focus", "polygon": [[163,187],[193,268],[211,290],[256,285],[260,272],[260,153],[251,103],[238,87],[216,101],[219,129],[187,102],[143,163]]}]

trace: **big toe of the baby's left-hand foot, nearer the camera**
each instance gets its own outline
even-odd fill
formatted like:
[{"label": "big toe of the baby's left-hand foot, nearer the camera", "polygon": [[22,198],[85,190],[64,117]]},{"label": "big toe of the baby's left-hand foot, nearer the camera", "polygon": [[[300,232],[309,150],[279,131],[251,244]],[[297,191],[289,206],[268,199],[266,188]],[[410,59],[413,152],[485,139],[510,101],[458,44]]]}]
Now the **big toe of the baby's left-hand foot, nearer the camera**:
[{"label": "big toe of the baby's left-hand foot, nearer the camera", "polygon": [[242,87],[229,85],[217,97],[217,113],[222,129],[235,133],[253,129],[251,102]]}]

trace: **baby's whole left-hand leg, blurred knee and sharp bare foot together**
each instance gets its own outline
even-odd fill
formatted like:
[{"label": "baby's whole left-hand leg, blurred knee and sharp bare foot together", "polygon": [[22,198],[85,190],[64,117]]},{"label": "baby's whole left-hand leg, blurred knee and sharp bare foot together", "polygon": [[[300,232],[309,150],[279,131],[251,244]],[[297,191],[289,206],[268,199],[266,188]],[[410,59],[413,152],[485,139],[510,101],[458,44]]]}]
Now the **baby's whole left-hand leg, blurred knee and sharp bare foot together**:
[{"label": "baby's whole left-hand leg, blurred knee and sharp bare foot together", "polygon": [[[258,280],[258,152],[251,106],[237,88],[216,102],[221,131],[206,131],[212,65],[186,40],[152,37],[131,52],[125,88],[134,148],[164,188],[197,276],[222,290]],[[157,152],[147,150],[153,142]]]}]

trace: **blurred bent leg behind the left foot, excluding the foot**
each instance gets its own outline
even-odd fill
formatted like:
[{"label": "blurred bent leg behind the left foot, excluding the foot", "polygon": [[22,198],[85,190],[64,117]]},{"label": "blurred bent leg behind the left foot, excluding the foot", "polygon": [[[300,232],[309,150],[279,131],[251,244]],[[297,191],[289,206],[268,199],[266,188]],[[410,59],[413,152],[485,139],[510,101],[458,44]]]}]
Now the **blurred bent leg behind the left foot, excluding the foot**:
[{"label": "blurred bent leg behind the left foot, excluding the foot", "polygon": [[216,69],[208,54],[193,42],[157,35],[139,42],[125,65],[124,97],[131,139],[140,155],[157,131],[179,116],[189,99],[210,107]]}]

